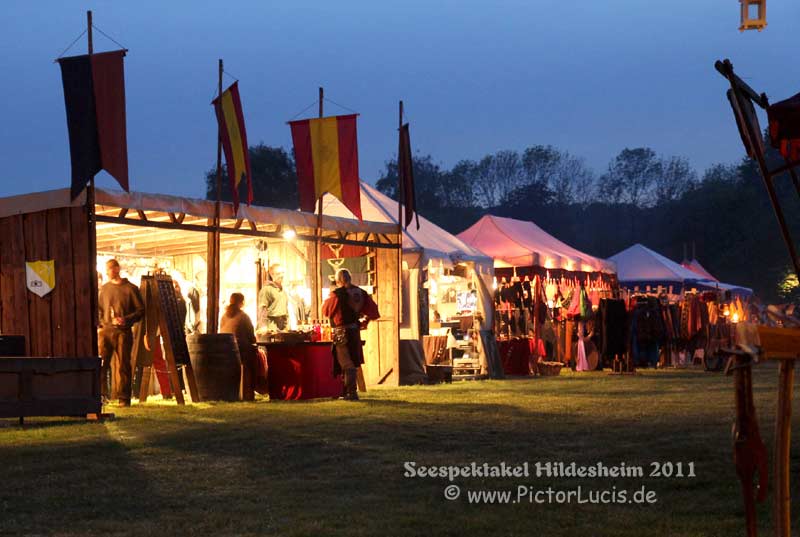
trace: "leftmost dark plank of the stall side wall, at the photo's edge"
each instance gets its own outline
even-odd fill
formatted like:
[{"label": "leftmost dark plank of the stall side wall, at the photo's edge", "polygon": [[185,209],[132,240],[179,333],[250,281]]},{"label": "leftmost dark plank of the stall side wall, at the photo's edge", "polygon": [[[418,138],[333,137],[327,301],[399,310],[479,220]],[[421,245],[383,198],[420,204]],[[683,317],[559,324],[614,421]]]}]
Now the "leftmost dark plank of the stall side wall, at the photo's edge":
[{"label": "leftmost dark plank of the stall side wall, at the photo's edge", "polygon": [[30,355],[28,330],[28,290],[25,284],[25,237],[22,216],[0,219],[0,330],[4,334],[24,335],[25,352]]}]

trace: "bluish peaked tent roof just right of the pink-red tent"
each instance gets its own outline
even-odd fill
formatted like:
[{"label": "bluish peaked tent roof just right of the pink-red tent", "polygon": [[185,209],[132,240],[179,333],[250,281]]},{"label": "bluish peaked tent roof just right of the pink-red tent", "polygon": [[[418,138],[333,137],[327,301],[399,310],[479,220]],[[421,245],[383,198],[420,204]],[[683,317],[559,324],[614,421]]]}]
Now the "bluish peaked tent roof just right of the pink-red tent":
[{"label": "bluish peaked tent roof just right of the pink-red tent", "polygon": [[739,295],[753,293],[752,289],[746,287],[729,285],[716,279],[709,279],[703,274],[690,270],[641,244],[634,244],[608,259],[616,263],[617,278],[620,285],[623,286],[672,286],[673,291],[677,293],[684,286],[690,285],[697,289],[722,289]]}]

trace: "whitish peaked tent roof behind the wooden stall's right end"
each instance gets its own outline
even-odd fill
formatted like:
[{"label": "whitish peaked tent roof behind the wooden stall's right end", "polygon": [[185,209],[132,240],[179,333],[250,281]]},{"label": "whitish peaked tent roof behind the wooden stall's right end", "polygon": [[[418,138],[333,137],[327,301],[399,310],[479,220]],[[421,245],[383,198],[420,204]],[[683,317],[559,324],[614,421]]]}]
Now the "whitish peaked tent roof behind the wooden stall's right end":
[{"label": "whitish peaked tent roof behind the wooden stall's right end", "polygon": [[[361,182],[361,214],[364,220],[388,222],[397,225],[398,203],[375,187]],[[331,194],[322,198],[322,213],[325,216],[355,218],[344,204]],[[455,235],[448,233],[430,220],[419,217],[419,229],[412,224],[403,230],[403,254],[416,254],[409,263],[413,268],[427,264],[428,260],[444,261],[446,264],[472,261],[486,268],[492,267],[492,259],[483,252],[469,246]]]}]

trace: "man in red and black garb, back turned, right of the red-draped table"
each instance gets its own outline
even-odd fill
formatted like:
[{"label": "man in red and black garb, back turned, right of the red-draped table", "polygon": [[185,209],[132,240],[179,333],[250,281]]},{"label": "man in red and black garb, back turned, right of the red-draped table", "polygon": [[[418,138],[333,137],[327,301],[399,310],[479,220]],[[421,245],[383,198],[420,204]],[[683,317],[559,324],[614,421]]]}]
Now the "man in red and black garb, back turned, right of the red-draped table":
[{"label": "man in red and black garb, back turned, right of the red-draped table", "polygon": [[380,317],[378,305],[360,287],[352,284],[350,271],[336,272],[336,289],[322,304],[322,315],[333,329],[333,374],[344,371],[344,399],[358,401],[358,367],[364,363],[360,331]]}]

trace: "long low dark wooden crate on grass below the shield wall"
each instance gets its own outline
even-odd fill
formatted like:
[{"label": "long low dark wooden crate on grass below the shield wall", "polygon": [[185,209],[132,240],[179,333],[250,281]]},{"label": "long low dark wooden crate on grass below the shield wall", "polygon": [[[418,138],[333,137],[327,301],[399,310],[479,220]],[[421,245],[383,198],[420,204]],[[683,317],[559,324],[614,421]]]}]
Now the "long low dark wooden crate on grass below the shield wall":
[{"label": "long low dark wooden crate on grass below the shield wall", "polygon": [[0,418],[100,414],[100,358],[0,358]]}]

